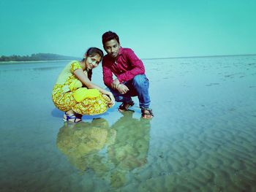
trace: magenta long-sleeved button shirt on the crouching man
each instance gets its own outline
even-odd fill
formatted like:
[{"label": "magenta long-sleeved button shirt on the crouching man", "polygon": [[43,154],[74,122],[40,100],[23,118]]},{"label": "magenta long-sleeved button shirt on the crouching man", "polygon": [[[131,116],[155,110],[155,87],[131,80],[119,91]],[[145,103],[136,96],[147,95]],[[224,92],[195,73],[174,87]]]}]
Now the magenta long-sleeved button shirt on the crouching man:
[{"label": "magenta long-sleeved button shirt on the crouching man", "polygon": [[108,87],[113,82],[113,74],[116,75],[119,82],[126,82],[132,80],[137,74],[145,73],[143,62],[133,50],[123,47],[120,47],[116,59],[111,58],[110,55],[105,55],[102,59],[102,68],[103,80]]}]

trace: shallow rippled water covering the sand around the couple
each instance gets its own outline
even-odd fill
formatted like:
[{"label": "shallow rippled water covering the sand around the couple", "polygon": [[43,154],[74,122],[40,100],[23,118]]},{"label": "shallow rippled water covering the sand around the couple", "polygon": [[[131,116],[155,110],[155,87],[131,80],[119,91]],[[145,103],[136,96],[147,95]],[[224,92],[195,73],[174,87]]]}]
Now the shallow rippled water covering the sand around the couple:
[{"label": "shallow rippled water covering the sand around the couple", "polygon": [[256,56],[143,62],[152,120],[135,98],[77,124],[50,97],[67,62],[1,64],[0,191],[256,191]]}]

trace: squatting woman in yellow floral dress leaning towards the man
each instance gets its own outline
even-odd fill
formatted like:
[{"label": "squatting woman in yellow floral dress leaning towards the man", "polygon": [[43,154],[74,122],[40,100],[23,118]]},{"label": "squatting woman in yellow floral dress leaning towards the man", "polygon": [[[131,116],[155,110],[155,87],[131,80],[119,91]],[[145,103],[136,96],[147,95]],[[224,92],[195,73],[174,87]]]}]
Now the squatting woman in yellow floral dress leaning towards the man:
[{"label": "squatting woman in yellow floral dress leaning towards the man", "polygon": [[64,121],[78,123],[82,115],[97,115],[115,104],[110,91],[91,82],[92,69],[102,61],[103,52],[97,47],[86,51],[82,61],[71,61],[59,74],[52,92],[55,106],[64,111]]}]

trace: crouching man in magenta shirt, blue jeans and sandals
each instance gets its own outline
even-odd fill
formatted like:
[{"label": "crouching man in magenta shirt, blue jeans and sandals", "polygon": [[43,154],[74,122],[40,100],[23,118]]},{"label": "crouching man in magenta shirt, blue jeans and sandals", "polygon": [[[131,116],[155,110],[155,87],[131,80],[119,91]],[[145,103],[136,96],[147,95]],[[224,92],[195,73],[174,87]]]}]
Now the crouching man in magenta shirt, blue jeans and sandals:
[{"label": "crouching man in magenta shirt, blue jeans and sandals", "polygon": [[138,96],[142,118],[153,118],[143,62],[131,49],[121,47],[118,35],[112,31],[102,35],[102,44],[108,53],[102,60],[103,80],[116,101],[122,102],[118,110],[127,111],[134,105],[131,97]]}]

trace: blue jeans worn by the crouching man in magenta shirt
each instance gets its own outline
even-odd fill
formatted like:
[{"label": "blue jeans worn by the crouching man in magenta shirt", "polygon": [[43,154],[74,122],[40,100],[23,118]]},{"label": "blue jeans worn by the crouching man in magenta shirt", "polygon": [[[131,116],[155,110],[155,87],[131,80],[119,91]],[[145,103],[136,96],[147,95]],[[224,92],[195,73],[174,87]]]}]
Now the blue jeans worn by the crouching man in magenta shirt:
[{"label": "blue jeans worn by the crouching man in magenta shirt", "polygon": [[127,85],[129,91],[125,94],[119,93],[117,90],[113,90],[112,88],[108,88],[113,96],[115,97],[116,101],[127,103],[132,101],[132,96],[138,96],[140,102],[140,108],[148,108],[150,104],[150,97],[148,93],[149,82],[148,78],[145,74],[138,74],[133,77],[132,80],[124,82],[124,85]]}]

